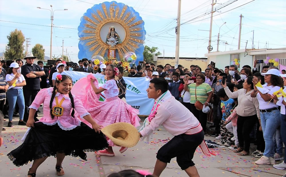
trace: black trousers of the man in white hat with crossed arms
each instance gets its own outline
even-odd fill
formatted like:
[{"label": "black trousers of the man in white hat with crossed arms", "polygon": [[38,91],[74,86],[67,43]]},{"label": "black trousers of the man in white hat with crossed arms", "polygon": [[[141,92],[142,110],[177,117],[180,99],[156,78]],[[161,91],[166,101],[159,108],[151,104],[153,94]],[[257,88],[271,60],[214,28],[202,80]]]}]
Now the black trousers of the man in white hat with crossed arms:
[{"label": "black trousers of the man in white hat with crossed arms", "polygon": [[[30,89],[23,89],[24,99],[25,99],[25,112],[24,112],[24,121],[27,122],[29,118],[29,106],[31,106],[32,102],[34,101],[37,93],[40,90],[30,90]],[[38,113],[35,113],[34,119],[37,120]]]}]

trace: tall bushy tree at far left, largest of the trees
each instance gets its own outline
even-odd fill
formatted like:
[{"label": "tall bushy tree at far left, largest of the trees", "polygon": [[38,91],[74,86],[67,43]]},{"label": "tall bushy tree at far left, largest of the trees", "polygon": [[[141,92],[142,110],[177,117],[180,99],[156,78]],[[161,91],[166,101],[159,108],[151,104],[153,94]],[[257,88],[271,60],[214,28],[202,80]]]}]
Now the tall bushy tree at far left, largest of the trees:
[{"label": "tall bushy tree at far left, largest of the trees", "polygon": [[25,36],[21,30],[15,29],[10,32],[10,35],[7,36],[8,44],[5,51],[5,58],[7,60],[15,60],[17,58],[23,58]]}]

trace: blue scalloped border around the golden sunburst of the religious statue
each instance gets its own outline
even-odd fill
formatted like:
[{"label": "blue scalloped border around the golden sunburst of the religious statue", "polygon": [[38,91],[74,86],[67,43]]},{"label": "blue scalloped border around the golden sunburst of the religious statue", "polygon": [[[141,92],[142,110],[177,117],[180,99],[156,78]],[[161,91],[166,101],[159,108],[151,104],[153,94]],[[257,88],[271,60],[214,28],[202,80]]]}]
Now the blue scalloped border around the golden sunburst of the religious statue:
[{"label": "blue scalloped border around the golden sunburst of the religious statue", "polygon": [[[117,3],[116,1],[112,1],[112,2],[103,2],[103,4],[105,4],[106,7],[110,7],[111,4],[115,4],[116,6],[114,6],[115,8],[119,7],[120,9],[122,9],[125,4],[124,3]],[[96,12],[97,10],[104,12],[104,9],[102,8],[102,3],[100,4],[96,4],[93,7],[91,7],[90,9],[87,9],[86,13],[84,13],[84,15],[80,18],[80,25],[78,26],[78,36],[80,38],[82,37],[87,37],[88,35],[84,32],[84,30],[86,30],[88,27],[86,27],[85,25],[93,25],[90,22],[88,22],[86,19],[84,19],[84,16],[89,17],[90,19],[93,19],[92,14],[94,14],[94,12]],[[108,9],[109,10],[109,9]],[[140,21],[142,20],[142,18],[140,17],[139,13],[136,12],[133,7],[129,7],[127,6],[127,9],[125,10],[125,13],[130,13],[132,14],[134,17],[136,17],[135,19],[132,19],[133,21]],[[140,36],[140,40],[144,41],[145,40],[145,34],[146,31],[144,29],[144,22],[142,22],[141,24],[136,25],[136,27],[140,27],[141,30],[137,31],[140,32],[142,36]],[[97,29],[99,30],[99,29]],[[91,42],[90,40],[86,40],[86,41],[82,41],[80,40],[78,43],[78,48],[79,48],[79,52],[78,52],[78,58],[81,60],[82,58],[92,58],[92,56],[94,55],[94,52],[96,49],[91,50],[90,51],[90,47],[88,47],[86,44],[88,42]],[[123,41],[122,41],[123,42]],[[135,54],[137,56],[137,60],[136,61],[132,61],[132,63],[136,63],[138,65],[139,61],[143,61],[143,51],[144,51],[144,45],[142,43],[138,43],[138,48],[135,50]],[[107,50],[104,53],[104,58],[107,58]],[[118,51],[116,50],[116,58],[120,58]]]}]

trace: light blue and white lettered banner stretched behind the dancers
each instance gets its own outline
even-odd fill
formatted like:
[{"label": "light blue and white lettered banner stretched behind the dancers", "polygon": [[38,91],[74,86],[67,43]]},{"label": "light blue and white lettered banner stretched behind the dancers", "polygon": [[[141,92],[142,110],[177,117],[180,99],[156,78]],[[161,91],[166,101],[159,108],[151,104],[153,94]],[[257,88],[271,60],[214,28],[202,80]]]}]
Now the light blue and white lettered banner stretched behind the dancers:
[{"label": "light blue and white lettered banner stretched behind the dancers", "polygon": [[[87,72],[78,71],[64,71],[63,75],[68,75],[72,78],[74,84],[83,77],[86,77]],[[101,87],[106,80],[102,74],[94,74],[98,80],[98,86]],[[139,110],[140,115],[149,115],[154,104],[154,99],[149,99],[147,96],[147,91],[149,87],[149,79],[145,77],[123,77],[126,82],[126,102],[133,108]],[[102,92],[99,101],[104,101],[105,96]]]}]

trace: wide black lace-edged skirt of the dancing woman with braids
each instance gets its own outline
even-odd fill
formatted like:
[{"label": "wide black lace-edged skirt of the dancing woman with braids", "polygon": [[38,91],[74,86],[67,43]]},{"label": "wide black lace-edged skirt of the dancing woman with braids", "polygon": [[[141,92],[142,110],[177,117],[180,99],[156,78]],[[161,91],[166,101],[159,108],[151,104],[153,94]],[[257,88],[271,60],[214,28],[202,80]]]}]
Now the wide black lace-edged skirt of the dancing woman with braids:
[{"label": "wide black lace-edged skirt of the dancing woman with braids", "polygon": [[105,135],[102,132],[96,133],[85,123],[80,123],[80,126],[72,130],[63,130],[58,124],[45,125],[42,122],[36,122],[34,126],[24,143],[7,154],[16,166],[46,156],[55,156],[57,152],[86,160],[84,152],[94,152],[108,147]]}]

